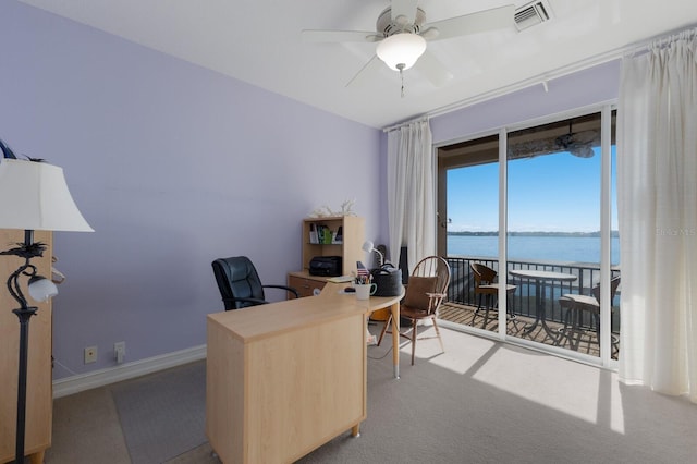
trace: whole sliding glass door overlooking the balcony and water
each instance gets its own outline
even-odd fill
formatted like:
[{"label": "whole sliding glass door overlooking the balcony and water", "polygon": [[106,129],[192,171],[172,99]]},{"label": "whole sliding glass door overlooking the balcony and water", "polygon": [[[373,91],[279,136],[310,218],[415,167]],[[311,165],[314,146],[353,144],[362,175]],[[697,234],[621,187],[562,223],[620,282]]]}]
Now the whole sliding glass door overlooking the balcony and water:
[{"label": "whole sliding glass door overlooking the balcony and water", "polygon": [[[614,113],[603,110],[502,131],[504,143],[496,134],[439,148],[439,246],[454,276],[442,318],[579,357],[604,346],[616,358],[613,133]],[[479,266],[503,290],[482,289]]]}]

